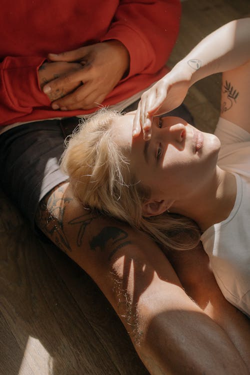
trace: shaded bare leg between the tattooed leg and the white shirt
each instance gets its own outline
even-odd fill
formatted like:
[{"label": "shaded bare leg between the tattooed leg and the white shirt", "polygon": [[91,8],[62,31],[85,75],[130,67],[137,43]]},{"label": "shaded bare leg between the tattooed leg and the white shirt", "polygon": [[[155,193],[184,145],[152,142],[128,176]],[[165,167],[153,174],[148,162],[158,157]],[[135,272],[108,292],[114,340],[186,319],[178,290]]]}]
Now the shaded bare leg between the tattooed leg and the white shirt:
[{"label": "shaded bare leg between the tattooed leg and the white shirt", "polygon": [[223,297],[201,242],[189,251],[168,251],[167,258],[186,293],[227,332],[250,369],[250,320]]}]

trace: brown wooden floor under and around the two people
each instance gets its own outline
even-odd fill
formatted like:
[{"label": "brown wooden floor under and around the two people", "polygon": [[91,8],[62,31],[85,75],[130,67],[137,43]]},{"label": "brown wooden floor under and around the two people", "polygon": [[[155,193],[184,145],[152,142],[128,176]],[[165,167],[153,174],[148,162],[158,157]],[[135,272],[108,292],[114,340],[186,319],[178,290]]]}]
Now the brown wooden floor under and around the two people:
[{"label": "brown wooden floor under and around the two people", "polygon": [[[249,0],[186,0],[173,66],[203,36],[250,15]],[[212,131],[220,76],[198,82],[185,103]],[[90,278],[40,243],[0,191],[0,375],[145,375],[119,319]]]}]

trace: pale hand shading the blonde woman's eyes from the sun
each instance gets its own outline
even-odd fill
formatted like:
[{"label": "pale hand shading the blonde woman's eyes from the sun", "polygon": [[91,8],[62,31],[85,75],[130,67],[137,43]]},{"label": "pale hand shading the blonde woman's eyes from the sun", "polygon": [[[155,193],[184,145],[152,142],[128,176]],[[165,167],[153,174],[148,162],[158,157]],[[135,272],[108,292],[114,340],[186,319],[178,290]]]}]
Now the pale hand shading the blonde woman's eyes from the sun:
[{"label": "pale hand shading the blonde woman's eyes from the sun", "polygon": [[169,112],[182,103],[189,88],[189,78],[176,65],[141,95],[133,121],[133,137],[142,130],[144,139],[150,139],[153,117]]}]

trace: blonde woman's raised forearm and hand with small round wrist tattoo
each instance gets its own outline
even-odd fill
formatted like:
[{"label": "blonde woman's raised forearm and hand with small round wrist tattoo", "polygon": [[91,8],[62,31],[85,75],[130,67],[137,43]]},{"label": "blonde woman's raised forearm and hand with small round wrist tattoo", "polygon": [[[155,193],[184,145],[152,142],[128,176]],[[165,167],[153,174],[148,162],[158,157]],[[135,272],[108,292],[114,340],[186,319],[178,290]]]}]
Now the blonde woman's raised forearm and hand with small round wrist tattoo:
[{"label": "blonde woman's raised forearm and hand with small round wrist tattoo", "polygon": [[183,101],[188,88],[208,75],[235,69],[250,59],[250,18],[231,21],[201,40],[172,70],[141,96],[133,135],[141,127],[150,136],[154,115],[168,112]]}]

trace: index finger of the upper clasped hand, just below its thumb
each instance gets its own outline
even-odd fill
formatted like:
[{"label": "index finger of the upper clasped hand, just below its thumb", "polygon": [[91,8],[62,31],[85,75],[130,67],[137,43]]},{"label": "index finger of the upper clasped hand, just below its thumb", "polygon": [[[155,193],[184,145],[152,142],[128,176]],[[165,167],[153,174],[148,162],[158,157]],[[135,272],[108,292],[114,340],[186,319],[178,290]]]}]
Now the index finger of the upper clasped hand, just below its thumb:
[{"label": "index finger of the upper clasped hand, just below its thumb", "polygon": [[62,90],[64,87],[74,83],[80,83],[84,81],[86,77],[86,69],[82,67],[78,69],[72,69],[70,72],[61,75],[59,78],[51,80],[49,83],[43,86],[43,92],[50,94],[52,91]]}]

